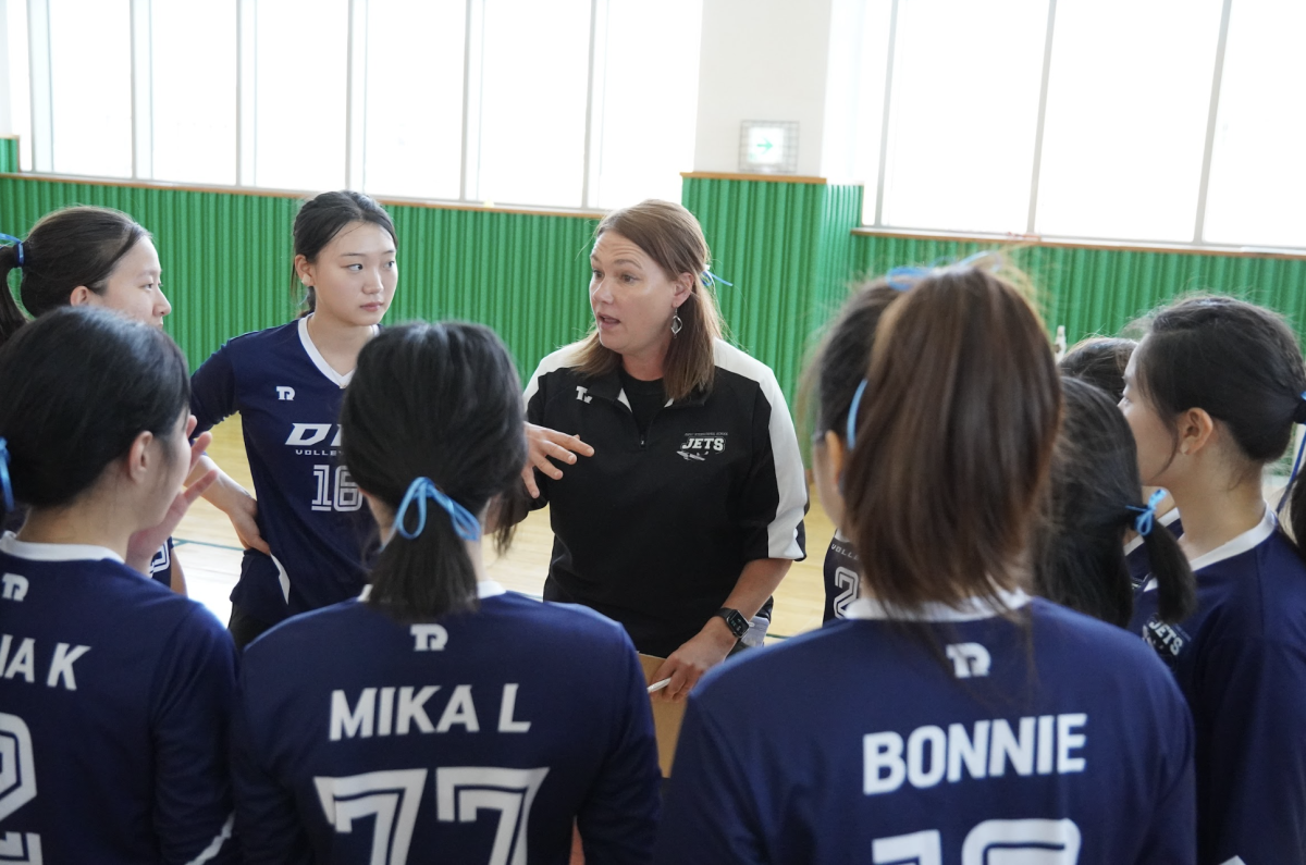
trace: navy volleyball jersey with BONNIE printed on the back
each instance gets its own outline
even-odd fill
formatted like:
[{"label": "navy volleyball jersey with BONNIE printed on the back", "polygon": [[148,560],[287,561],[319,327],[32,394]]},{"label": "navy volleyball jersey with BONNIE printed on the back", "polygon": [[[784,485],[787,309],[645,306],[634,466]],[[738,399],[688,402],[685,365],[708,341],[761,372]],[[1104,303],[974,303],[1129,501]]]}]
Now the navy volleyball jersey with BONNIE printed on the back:
[{"label": "navy volleyball jersey with BONNIE printed on the back", "polygon": [[931,605],[935,655],[863,597],[709,673],[654,861],[1192,862],[1192,725],[1171,677],[1119,628],[1007,602],[1028,605],[1028,631]]}]

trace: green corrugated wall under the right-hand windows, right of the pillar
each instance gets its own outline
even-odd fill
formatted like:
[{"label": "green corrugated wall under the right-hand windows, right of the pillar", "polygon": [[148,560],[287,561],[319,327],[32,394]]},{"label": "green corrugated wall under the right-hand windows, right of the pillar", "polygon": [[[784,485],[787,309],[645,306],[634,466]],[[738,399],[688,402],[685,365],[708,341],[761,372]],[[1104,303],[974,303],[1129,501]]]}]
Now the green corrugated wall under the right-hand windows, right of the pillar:
[{"label": "green corrugated wall under the right-hand windows, right of the pillar", "polygon": [[[854,270],[956,260],[987,244],[917,238],[854,238]],[[1192,291],[1233,294],[1288,316],[1306,335],[1306,260],[1186,252],[1017,247],[1012,260],[1038,289],[1049,328],[1066,325],[1075,342],[1118,333],[1149,310]]]}]

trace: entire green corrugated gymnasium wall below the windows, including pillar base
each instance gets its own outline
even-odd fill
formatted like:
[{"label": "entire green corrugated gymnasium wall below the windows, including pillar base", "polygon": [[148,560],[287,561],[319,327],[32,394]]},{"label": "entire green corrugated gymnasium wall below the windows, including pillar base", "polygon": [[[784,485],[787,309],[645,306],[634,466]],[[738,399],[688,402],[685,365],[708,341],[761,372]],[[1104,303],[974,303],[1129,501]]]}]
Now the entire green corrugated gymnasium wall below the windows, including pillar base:
[{"label": "entire green corrugated gymnasium wall below the windows, including pillar base", "polygon": [[[17,142],[0,139],[0,169],[16,159]],[[993,247],[854,235],[862,209],[862,188],[854,186],[687,175],[682,201],[703,223],[713,272],[734,284],[717,286],[731,338],[776,370],[790,399],[812,337],[857,277]],[[293,196],[0,175],[0,231],[24,237],[42,214],[69,204],[119,208],[154,233],[174,306],[167,329],[192,367],[223,340],[295,315]],[[388,206],[400,239],[389,321],[488,324],[522,375],[588,329],[590,216]],[[1306,333],[1303,259],[1049,246],[1008,252],[1041,289],[1049,327],[1064,324],[1071,342],[1115,333],[1194,290],[1269,306]]]}]

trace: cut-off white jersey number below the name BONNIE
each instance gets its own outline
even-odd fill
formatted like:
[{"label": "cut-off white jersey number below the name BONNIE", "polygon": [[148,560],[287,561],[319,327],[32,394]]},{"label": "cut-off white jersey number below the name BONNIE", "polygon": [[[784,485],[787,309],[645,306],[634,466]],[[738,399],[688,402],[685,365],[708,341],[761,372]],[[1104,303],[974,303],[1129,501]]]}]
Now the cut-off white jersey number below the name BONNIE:
[{"label": "cut-off white jersey number below the name BONNIE", "polygon": [[[1075,865],[1079,861],[1079,827],[1074,821],[985,821],[961,843],[961,865]],[[942,865],[939,830],[876,838],[871,841],[874,865]]]}]

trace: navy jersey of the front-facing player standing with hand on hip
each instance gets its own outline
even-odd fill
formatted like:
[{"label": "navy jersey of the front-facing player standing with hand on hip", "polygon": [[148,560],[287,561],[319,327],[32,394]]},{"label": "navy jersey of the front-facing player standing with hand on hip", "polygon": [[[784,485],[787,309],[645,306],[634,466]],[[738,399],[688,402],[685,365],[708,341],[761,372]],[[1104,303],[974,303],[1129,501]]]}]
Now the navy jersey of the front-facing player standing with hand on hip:
[{"label": "navy jersey of the front-facing player standing with hand on hip", "polygon": [[353,372],[336,372],[308,319],[239,336],[195,371],[196,435],[235,412],[272,557],[246,550],[231,602],[273,625],[357,597],[376,523],[340,463],[340,406]]}]

